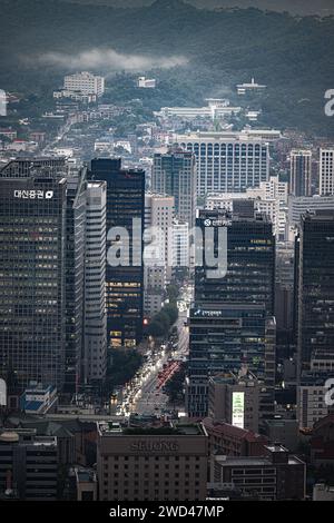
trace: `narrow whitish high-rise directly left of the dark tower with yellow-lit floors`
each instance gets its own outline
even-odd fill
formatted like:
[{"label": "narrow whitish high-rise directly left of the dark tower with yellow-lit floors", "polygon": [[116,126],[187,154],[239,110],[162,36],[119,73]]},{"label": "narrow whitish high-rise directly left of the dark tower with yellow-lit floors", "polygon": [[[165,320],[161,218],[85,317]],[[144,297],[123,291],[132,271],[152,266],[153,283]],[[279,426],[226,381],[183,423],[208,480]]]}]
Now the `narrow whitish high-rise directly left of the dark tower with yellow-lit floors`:
[{"label": "narrow whitish high-rise directly left of the dark tower with yellow-lit floors", "polygon": [[85,264],[85,357],[86,383],[101,381],[107,366],[106,316],[106,201],[107,184],[87,185]]}]

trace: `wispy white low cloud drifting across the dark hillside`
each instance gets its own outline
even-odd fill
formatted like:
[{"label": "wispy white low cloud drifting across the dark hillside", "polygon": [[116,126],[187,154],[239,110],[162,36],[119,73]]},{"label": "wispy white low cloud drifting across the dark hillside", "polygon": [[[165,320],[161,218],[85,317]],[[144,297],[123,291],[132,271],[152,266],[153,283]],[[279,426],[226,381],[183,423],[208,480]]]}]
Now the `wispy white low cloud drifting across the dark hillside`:
[{"label": "wispy white low cloud drifting across the dark hillside", "polygon": [[[36,62],[36,59],[33,60]],[[153,68],[168,69],[184,66],[187,59],[183,56],[147,57],[126,55],[114,49],[90,49],[77,55],[46,52],[38,58],[39,65],[55,66],[62,69],[99,69],[99,70],[149,70]]]}]

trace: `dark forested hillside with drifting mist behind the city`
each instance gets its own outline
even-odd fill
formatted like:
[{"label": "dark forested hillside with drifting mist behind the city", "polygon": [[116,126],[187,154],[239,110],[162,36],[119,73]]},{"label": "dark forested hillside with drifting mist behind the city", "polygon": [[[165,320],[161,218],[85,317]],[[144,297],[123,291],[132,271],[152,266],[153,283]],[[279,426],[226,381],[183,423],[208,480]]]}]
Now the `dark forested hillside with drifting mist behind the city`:
[{"label": "dark forested hillside with drifting mist behind the city", "polygon": [[161,102],[200,105],[255,76],[268,86],[268,125],[332,131],[323,107],[325,90],[334,88],[333,18],[199,10],[180,0],[134,9],[58,0],[0,7],[2,89],[51,90],[78,69],[107,77],[153,70],[167,86]]}]

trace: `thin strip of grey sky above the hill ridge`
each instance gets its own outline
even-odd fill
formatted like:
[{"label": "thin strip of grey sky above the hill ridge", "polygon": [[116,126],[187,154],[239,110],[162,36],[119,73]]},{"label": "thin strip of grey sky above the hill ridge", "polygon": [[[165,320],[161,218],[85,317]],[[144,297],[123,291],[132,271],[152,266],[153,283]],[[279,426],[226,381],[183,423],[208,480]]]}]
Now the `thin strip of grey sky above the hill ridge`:
[{"label": "thin strip of grey sky above the hill ridge", "polygon": [[[149,6],[153,0],[66,0],[81,3],[101,3],[115,7]],[[161,0],[160,0],[161,1]],[[166,0],[168,2],[168,0]],[[334,0],[186,0],[200,8],[257,7],[301,14],[334,14]]]}]

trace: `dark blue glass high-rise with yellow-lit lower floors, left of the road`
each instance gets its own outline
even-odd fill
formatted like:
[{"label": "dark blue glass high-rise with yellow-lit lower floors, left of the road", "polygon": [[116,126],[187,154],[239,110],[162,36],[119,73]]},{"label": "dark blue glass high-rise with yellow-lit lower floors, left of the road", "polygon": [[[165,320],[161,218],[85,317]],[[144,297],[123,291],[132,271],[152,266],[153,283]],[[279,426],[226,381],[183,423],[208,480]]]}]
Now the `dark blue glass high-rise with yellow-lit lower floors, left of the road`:
[{"label": "dark blue glass high-rise with yellow-lit lower floors, left of the road", "polygon": [[[100,158],[91,161],[89,179],[107,181],[108,343],[109,346],[135,347],[143,336],[145,171],[121,169],[120,159]],[[120,238],[120,229],[110,230],[115,227],[126,229],[129,248]],[[122,259],[122,265],[111,265],[110,247],[114,253],[118,247],[128,251],[128,259]]]}]

